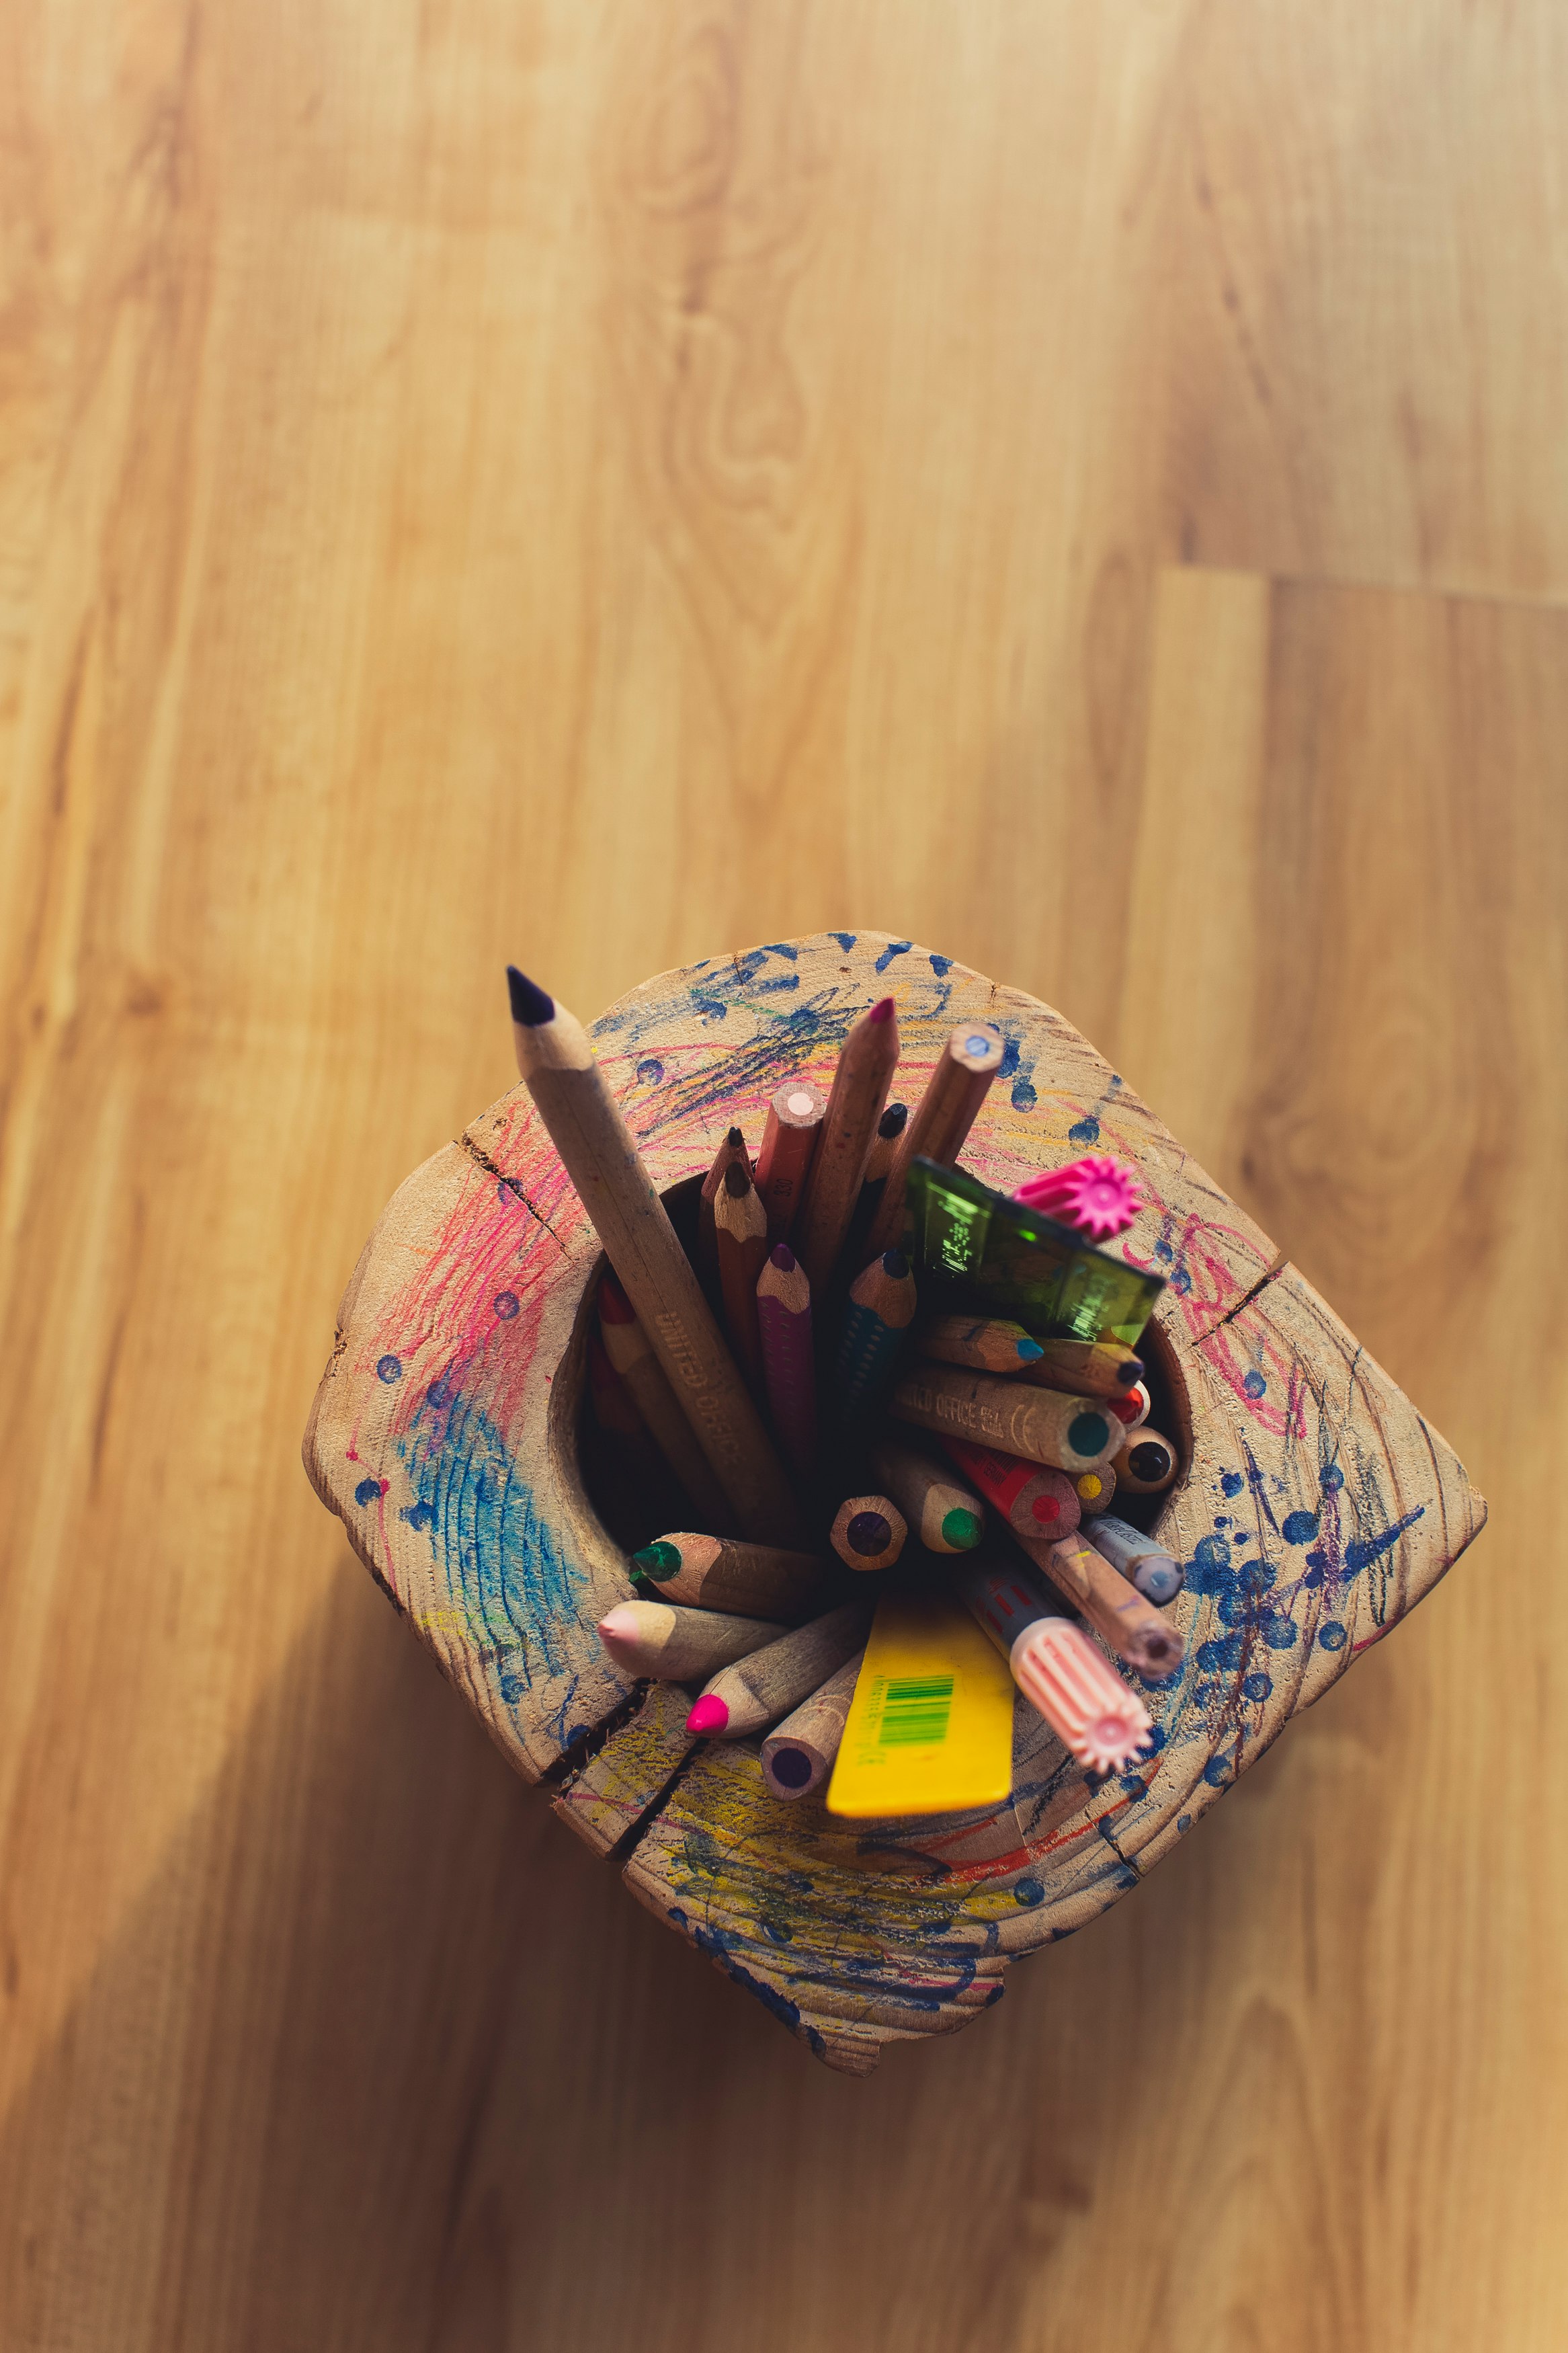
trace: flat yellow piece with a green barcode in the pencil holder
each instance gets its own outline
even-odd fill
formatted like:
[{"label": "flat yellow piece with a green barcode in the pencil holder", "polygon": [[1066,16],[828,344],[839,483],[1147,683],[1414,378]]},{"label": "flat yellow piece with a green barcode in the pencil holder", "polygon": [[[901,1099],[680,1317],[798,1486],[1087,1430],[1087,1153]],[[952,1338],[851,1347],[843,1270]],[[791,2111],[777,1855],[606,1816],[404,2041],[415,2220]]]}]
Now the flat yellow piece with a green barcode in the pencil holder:
[{"label": "flat yellow piece with a green barcode in the pencil holder", "polygon": [[1013,1786],[1013,1678],[969,1609],[938,1595],[877,1602],[832,1767],[827,1812],[952,1814]]}]

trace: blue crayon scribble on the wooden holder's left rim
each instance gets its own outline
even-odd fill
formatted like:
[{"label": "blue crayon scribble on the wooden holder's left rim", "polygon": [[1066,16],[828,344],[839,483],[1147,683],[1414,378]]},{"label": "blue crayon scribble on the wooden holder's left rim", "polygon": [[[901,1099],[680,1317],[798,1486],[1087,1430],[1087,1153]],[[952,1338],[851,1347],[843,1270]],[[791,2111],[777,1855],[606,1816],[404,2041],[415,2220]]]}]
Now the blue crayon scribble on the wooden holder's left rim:
[{"label": "blue crayon scribble on the wooden holder's left rim", "polygon": [[397,1452],[447,1574],[470,1621],[505,1657],[505,1675],[529,1689],[536,1675],[562,1673],[583,1572],[541,1520],[489,1414],[465,1395],[440,1419],[421,1407]]}]

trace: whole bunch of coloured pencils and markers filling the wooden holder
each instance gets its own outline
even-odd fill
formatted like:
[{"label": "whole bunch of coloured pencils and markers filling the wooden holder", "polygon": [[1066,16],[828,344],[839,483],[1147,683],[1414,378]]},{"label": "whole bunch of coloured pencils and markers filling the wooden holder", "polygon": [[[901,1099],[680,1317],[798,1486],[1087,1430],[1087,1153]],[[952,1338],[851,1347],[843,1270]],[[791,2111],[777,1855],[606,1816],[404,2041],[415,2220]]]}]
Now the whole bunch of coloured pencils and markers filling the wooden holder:
[{"label": "whole bunch of coloured pencils and markers filling the wooden holder", "polygon": [[764,1737],[776,1798],[830,1781],[846,1817],[1006,1798],[1016,1692],[1088,1772],[1126,1765],[1152,1729],[1128,1673],[1182,1657],[1161,1617],[1180,1565],[1110,1511],[1147,1511],[1180,1466],[1128,1344],[1159,1282],[1095,1247],[1140,1207],[1131,1172],[1100,1155],[987,1193],[957,1155],[1006,1040],[957,1024],[919,1101],[889,1104],[889,995],[827,1096],[773,1094],[755,1160],[726,1122],[686,1247],[583,1026],[508,981],[520,1071],[609,1259],[595,1459],[623,1525],[628,1492],[644,1529],[670,1494],[693,1522],[630,1553],[611,1657],[698,1687],[693,1739]]}]

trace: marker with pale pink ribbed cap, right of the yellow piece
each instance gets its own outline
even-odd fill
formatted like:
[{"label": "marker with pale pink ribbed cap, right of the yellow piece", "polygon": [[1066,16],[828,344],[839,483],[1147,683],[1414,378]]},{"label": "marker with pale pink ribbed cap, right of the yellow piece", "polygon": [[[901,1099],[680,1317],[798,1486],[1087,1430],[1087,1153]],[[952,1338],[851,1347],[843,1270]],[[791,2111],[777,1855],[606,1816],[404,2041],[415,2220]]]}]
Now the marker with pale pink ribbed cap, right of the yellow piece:
[{"label": "marker with pale pink ribbed cap, right of the yellow piece", "polygon": [[1006,1659],[1013,1682],[1063,1748],[1091,1772],[1119,1772],[1154,1729],[1150,1711],[1081,1626],[1060,1617],[1030,1569],[973,1562],[957,1591]]}]

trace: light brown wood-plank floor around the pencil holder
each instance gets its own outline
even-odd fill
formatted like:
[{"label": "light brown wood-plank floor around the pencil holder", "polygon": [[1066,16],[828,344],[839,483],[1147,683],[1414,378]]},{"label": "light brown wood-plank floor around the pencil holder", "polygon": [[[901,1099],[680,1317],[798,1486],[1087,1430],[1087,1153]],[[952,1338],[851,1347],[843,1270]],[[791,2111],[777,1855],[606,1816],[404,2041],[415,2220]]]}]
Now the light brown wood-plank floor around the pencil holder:
[{"label": "light brown wood-plank floor around the pencil holder", "polygon": [[[1566,108],[1561,0],[7,12],[7,2353],[1561,2353]],[[825,922],[1060,1005],[1493,1499],[870,2082],[299,1468],[503,958]]]}]

